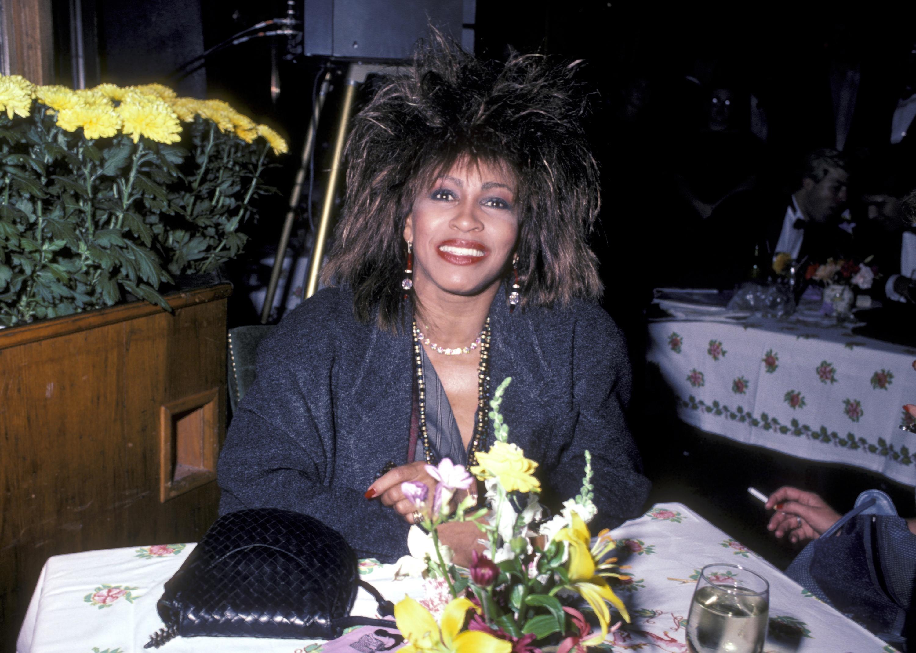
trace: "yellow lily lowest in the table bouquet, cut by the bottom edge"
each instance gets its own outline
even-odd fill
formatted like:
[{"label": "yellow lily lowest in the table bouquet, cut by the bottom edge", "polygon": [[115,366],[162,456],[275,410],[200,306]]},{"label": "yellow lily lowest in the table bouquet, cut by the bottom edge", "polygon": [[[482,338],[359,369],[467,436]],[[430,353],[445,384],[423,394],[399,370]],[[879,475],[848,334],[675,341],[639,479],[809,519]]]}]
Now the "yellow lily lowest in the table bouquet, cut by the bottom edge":
[{"label": "yellow lily lowest in the table bouquet, cut by the bottom edge", "polygon": [[435,651],[435,653],[510,653],[511,642],[480,630],[461,631],[468,610],[477,607],[465,598],[453,599],[442,613],[442,630],[425,607],[404,596],[395,605],[395,623],[409,644],[401,653]]}]

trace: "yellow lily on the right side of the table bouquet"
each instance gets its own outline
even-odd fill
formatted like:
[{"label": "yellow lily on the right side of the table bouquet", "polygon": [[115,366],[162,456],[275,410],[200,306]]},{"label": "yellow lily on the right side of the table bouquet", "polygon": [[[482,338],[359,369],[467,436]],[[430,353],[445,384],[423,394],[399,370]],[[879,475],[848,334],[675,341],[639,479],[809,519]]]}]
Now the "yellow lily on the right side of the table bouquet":
[{"label": "yellow lily on the right side of the table bouquet", "polygon": [[[566,588],[582,595],[583,599],[592,608],[594,615],[598,617],[598,625],[601,626],[601,635],[584,641],[583,645],[593,646],[603,642],[607,637],[607,626],[611,621],[611,614],[605,601],[614,605],[620,615],[629,622],[627,606],[611,591],[604,578],[605,576],[618,575],[607,571],[613,566],[610,564],[612,560],[608,560],[601,565],[595,564],[595,558],[600,558],[610,549],[607,540],[599,538],[595,544],[594,552],[589,550],[588,545],[592,536],[588,532],[588,527],[585,526],[582,517],[579,517],[575,511],[573,511],[573,526],[562,528],[554,539],[565,541],[569,544],[570,560],[566,571],[569,574],[570,582],[566,585]],[[611,546],[613,546],[613,541]]]}]

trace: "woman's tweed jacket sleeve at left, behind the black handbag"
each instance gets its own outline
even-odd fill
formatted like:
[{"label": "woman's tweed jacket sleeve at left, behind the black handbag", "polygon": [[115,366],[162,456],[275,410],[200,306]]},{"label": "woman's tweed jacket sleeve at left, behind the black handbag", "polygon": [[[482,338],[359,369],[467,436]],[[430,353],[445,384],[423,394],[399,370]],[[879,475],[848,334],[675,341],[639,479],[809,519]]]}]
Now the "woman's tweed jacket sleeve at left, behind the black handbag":
[{"label": "woman's tweed jacket sleeve at left, behind the black handbag", "polygon": [[340,532],[360,557],[397,560],[407,553],[407,523],[380,502],[367,501],[365,488],[329,480],[336,446],[333,346],[310,341],[304,347],[301,333],[281,324],[258,350],[256,382],[220,453],[220,514],[293,510]]}]

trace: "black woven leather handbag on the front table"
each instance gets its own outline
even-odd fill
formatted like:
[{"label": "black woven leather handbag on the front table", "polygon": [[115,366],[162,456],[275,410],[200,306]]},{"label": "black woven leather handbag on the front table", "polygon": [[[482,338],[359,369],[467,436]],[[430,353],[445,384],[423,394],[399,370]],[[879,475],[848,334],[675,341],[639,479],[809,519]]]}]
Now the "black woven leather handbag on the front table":
[{"label": "black woven leather handbag on the front table", "polygon": [[359,586],[380,615],[393,614],[333,528],[288,510],[239,510],[217,519],[166,582],[157,604],[166,627],[145,648],[176,636],[333,639],[348,626],[391,626],[349,616]]}]

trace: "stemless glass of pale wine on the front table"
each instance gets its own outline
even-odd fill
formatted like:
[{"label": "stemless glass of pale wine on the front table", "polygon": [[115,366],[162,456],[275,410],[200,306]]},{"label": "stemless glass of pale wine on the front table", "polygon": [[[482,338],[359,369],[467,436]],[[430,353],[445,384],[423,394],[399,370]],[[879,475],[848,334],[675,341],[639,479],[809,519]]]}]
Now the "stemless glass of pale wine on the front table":
[{"label": "stemless glass of pale wine on the front table", "polygon": [[700,571],[687,617],[691,653],[761,653],[767,638],[769,582],[741,565]]}]

